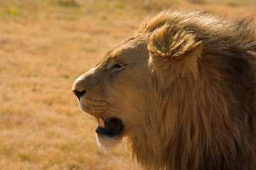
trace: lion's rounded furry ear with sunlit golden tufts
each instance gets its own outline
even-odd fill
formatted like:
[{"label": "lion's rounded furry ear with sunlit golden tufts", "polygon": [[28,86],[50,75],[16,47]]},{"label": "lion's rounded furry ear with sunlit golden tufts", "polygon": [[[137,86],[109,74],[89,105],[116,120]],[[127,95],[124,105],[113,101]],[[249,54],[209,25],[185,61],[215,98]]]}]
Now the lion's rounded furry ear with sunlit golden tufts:
[{"label": "lion's rounded furry ear with sunlit golden tufts", "polygon": [[149,65],[162,75],[169,72],[198,74],[198,58],[203,51],[203,43],[196,42],[195,35],[186,30],[166,24],[157,28],[150,36]]}]

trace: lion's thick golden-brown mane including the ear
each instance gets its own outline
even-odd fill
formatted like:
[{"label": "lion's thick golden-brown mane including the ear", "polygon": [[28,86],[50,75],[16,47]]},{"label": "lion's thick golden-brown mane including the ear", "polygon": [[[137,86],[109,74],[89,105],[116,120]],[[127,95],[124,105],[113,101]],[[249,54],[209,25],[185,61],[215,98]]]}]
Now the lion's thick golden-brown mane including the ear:
[{"label": "lion's thick golden-brown mane including the ear", "polygon": [[145,169],[256,169],[252,20],[164,11],[144,21],[151,81],[127,143]]}]

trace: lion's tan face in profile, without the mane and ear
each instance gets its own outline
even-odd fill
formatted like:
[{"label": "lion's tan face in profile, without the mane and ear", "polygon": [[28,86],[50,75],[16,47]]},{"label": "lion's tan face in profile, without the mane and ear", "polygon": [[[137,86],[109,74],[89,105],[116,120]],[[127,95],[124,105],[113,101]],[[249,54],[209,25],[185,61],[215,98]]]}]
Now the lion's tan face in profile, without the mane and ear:
[{"label": "lion's tan face in profile, without the mane and ear", "polygon": [[120,140],[142,122],[143,87],[149,77],[146,39],[139,35],[115,45],[73,84],[80,108],[99,124],[96,132],[101,145],[105,140]]}]

